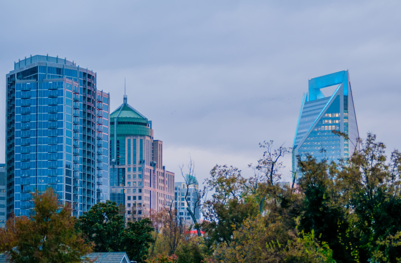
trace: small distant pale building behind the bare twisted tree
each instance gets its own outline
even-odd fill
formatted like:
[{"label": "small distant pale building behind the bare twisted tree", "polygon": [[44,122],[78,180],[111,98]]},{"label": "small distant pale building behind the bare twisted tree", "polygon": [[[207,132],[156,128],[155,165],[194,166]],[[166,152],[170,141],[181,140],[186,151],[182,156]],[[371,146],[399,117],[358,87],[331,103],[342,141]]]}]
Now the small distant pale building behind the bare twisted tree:
[{"label": "small distant pale building behind the bare twisted tree", "polygon": [[[187,185],[188,182],[188,185]],[[186,193],[188,191],[188,193]],[[186,203],[185,200],[188,203]],[[199,206],[199,184],[195,177],[187,174],[186,181],[176,182],[174,184],[174,207],[177,210],[177,216],[182,223],[193,224],[192,217],[190,216],[187,207],[195,215],[196,221],[199,223],[200,219],[200,206]]]}]

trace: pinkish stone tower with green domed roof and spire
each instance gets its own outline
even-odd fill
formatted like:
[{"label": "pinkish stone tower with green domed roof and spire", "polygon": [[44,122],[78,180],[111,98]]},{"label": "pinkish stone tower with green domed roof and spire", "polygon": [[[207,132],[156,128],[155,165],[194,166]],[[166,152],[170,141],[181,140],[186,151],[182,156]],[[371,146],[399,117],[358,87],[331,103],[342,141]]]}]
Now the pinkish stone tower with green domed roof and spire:
[{"label": "pinkish stone tower with green domed roof and spire", "polygon": [[110,160],[110,200],[125,205],[127,217],[172,205],[174,173],[163,166],[163,143],[125,95],[110,115]]}]

